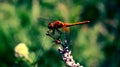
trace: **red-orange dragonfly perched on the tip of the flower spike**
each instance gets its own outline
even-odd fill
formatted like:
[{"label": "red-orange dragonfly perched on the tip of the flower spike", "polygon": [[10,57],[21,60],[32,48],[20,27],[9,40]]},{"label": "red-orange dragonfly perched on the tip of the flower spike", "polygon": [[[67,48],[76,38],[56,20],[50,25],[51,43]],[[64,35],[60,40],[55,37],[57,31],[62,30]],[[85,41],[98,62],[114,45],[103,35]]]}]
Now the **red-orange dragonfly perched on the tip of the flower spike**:
[{"label": "red-orange dragonfly perched on the tip of the flower spike", "polygon": [[[52,19],[45,19],[45,18],[39,18],[41,20],[52,20]],[[82,22],[75,22],[75,23],[66,23],[59,20],[55,20],[52,22],[49,22],[48,28],[54,34],[55,30],[60,33],[58,29],[62,28],[64,31],[69,32],[69,29],[67,27],[75,26],[75,25],[81,25],[89,23],[90,21],[82,21]]]}]

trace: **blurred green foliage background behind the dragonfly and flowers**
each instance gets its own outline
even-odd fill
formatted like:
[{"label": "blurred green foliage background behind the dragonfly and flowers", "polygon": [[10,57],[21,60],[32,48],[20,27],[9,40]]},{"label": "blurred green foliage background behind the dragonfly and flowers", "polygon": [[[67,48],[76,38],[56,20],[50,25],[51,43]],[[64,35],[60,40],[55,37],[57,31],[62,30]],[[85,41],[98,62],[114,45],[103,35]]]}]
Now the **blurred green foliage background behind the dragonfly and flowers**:
[{"label": "blurred green foliage background behind the dragonfly and flowers", "polygon": [[[46,36],[50,21],[89,24],[70,28],[73,58],[84,67],[120,67],[120,0],[0,0],[0,67],[32,67],[15,57],[25,43],[36,67],[65,67],[58,45]],[[39,56],[38,56],[39,55]]]}]

